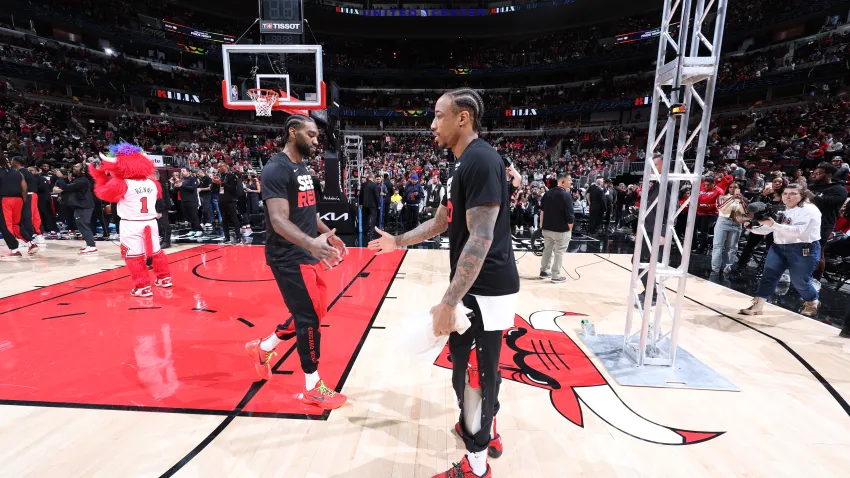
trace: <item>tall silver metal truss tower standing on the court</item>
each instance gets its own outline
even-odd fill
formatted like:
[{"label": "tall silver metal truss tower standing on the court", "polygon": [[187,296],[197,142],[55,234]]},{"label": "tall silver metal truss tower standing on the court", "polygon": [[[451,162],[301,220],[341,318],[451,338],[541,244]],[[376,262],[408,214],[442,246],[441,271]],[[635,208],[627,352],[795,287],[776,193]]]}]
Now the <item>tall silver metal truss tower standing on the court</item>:
[{"label": "tall silver metal truss tower standing on the court", "polygon": [[[708,140],[711,122],[711,106],[714,101],[714,87],[717,83],[720,46],[723,39],[723,26],[726,21],[726,0],[664,0],[661,33],[658,44],[658,59],[655,68],[655,84],[652,95],[652,114],[649,120],[649,134],[646,147],[646,163],[643,169],[643,183],[638,215],[635,252],[632,258],[632,278],[629,287],[629,309],[626,316],[626,331],[623,337],[624,354],[639,367],[644,365],[673,366],[679,345],[679,327],[682,320],[682,301],[685,298],[685,286],[688,281],[688,264],[691,252],[696,219],[699,186],[703,172],[705,146]],[[711,21],[706,21],[714,13],[713,38],[708,39]],[[679,19],[679,39],[673,40],[671,26]],[[668,55],[672,58],[668,61]],[[699,86],[705,85],[700,96]],[[666,119],[661,116],[662,106],[666,110]],[[693,131],[688,135],[691,120],[691,107],[694,119],[699,117]],[[663,123],[659,131],[660,123]],[[694,139],[697,138],[696,151]],[[685,154],[695,156],[693,170],[685,164]],[[653,160],[663,159],[659,168]],[[691,184],[690,201],[679,205],[680,184]],[[657,184],[653,184],[657,183]],[[668,186],[670,185],[670,186]],[[651,204],[648,201],[649,190],[658,188],[658,197]],[[669,189],[668,189],[669,188]],[[655,223],[646,224],[647,213],[653,210]],[[688,220],[684,244],[676,235],[676,218],[687,208]],[[662,220],[667,216],[666,227]],[[662,230],[665,229],[665,230]],[[652,233],[650,240],[649,233]],[[667,238],[667,240],[664,240]],[[663,241],[663,244],[662,244]],[[645,245],[646,244],[646,245]],[[650,250],[648,263],[641,262],[641,250]],[[676,247],[681,254],[679,267],[670,266],[670,253]],[[647,278],[644,300],[638,303],[638,294],[643,288],[641,278]],[[667,281],[677,278],[676,292],[666,290]],[[657,305],[652,305],[652,296],[658,289]],[[672,319],[665,324],[662,315],[667,312]],[[640,330],[633,331],[635,316],[640,317]]]}]

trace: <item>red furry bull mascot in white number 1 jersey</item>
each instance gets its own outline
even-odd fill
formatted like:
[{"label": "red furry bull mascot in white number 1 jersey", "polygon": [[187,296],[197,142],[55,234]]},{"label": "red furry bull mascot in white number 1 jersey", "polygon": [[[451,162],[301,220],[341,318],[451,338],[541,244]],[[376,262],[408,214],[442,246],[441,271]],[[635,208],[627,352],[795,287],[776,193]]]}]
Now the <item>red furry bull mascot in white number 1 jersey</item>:
[{"label": "red furry bull mascot in white number 1 jersey", "polygon": [[171,287],[171,272],[165,253],[159,248],[156,223],[156,200],[162,198],[162,186],[151,179],[154,164],[141,148],[129,143],[109,147],[110,154],[100,154],[99,167],[89,164],[94,178],[94,193],[101,200],[118,203],[121,218],[121,257],[133,279],[131,295],[150,297],[151,278],[146,258],[153,263],[154,285]]}]

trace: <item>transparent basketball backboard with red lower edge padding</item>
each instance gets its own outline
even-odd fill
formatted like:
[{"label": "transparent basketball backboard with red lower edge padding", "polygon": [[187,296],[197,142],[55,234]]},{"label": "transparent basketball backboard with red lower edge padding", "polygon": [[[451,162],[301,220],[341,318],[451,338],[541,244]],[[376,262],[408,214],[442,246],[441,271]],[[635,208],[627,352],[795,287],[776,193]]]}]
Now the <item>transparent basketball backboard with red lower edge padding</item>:
[{"label": "transparent basketball backboard with red lower edge padding", "polygon": [[252,88],[278,92],[273,109],[289,113],[324,109],[321,45],[222,45],[224,107],[253,110]]}]

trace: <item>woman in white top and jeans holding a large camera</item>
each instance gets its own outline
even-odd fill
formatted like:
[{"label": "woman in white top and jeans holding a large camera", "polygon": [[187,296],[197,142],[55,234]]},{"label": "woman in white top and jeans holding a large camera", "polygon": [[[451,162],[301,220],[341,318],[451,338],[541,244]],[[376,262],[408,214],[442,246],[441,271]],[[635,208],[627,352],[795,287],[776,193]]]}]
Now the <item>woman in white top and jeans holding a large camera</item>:
[{"label": "woman in white top and jeans holding a large camera", "polygon": [[[782,192],[783,214],[771,214],[770,208],[757,212],[745,227],[753,234],[773,233],[773,245],[767,253],[764,274],[759,281],[753,303],[741,309],[743,315],[761,315],[767,298],[776,291],[779,278],[790,271],[791,284],[805,301],[800,314],[814,317],[820,301],[812,286],[812,272],[820,260],[821,212],[810,201],[805,186],[789,184]],[[753,210],[751,204],[749,210]],[[774,216],[774,217],[771,217]]]}]

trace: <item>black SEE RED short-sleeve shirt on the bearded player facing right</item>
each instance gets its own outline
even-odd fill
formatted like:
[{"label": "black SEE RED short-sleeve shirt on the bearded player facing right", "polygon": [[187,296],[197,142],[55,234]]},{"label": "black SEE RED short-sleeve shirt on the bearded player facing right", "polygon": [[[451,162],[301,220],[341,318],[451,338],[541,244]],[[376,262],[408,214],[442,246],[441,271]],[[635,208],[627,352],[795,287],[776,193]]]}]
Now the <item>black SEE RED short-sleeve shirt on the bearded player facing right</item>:
[{"label": "black SEE RED short-sleeve shirt on the bearded player facing right", "polygon": [[[289,220],[304,234],[318,236],[316,225],[316,193],[313,179],[303,164],[293,163],[284,153],[278,153],[263,168],[263,201],[282,198],[289,201]],[[266,263],[316,264],[319,262],[308,250],[287,241],[271,227],[269,208],[266,207]]]}]

